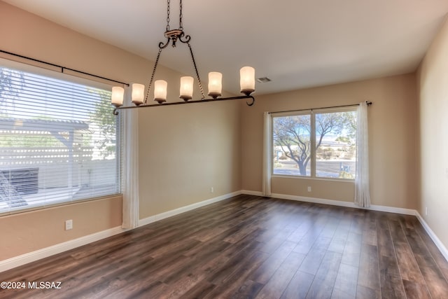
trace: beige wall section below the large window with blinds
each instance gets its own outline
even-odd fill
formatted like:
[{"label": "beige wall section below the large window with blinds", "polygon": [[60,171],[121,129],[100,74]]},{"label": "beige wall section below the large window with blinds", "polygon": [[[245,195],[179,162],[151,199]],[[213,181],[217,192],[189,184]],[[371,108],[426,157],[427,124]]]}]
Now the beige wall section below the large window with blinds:
[{"label": "beige wall section below the large window with blinds", "polygon": [[[121,196],[0,217],[0,260],[121,225]],[[64,230],[73,220],[73,230]]]}]

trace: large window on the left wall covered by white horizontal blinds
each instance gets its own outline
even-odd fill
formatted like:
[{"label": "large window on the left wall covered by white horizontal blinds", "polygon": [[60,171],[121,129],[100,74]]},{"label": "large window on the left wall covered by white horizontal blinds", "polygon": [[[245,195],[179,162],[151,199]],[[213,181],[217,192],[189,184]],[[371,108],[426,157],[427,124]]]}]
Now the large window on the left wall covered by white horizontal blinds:
[{"label": "large window on the left wall covered by white horizontal blinds", "polygon": [[120,193],[110,90],[0,60],[0,213]]}]

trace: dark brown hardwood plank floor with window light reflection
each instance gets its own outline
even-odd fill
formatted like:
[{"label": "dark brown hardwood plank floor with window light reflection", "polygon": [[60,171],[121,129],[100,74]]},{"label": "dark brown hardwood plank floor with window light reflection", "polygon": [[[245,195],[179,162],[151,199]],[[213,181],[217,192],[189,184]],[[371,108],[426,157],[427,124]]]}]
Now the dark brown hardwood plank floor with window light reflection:
[{"label": "dark brown hardwood plank floor with window light reflection", "polygon": [[0,298],[448,298],[414,216],[240,195],[0,273]]}]

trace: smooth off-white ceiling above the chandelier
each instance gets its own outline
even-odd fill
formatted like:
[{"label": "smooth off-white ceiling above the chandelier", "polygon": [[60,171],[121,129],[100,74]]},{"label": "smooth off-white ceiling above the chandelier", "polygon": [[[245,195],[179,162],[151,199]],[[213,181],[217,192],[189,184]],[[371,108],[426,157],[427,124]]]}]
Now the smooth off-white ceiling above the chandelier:
[{"label": "smooth off-white ceiling above the chandelier", "polygon": [[[165,41],[162,0],[3,1],[149,60]],[[260,95],[414,71],[447,13],[447,0],[184,0],[183,29],[202,81],[221,71],[237,93],[239,68],[251,65],[272,79],[257,83]],[[175,49],[160,64],[193,75],[188,47]]]}]

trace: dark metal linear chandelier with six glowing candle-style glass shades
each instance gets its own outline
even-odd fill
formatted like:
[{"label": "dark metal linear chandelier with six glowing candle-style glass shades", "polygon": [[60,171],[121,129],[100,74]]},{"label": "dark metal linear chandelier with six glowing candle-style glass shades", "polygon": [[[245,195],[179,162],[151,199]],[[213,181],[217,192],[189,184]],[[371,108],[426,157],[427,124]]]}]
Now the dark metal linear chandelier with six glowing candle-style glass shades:
[{"label": "dark metal linear chandelier with six glowing candle-style glass shades", "polygon": [[[182,0],[179,2],[180,6],[180,16],[179,16],[179,29],[169,29],[169,3],[170,0],[167,0],[167,31],[165,32],[165,38],[167,41],[165,43],[159,43],[159,51],[157,58],[155,59],[155,64],[153,68],[153,74],[151,75],[151,80],[149,81],[148,90],[146,92],[146,97],[144,97],[145,86],[143,84],[133,83],[132,84],[132,103],[135,106],[123,106],[123,98],[125,90],[121,87],[113,87],[112,88],[112,97],[111,103],[115,106],[113,110],[113,114],[118,115],[118,110],[120,109],[132,109],[132,108],[144,108],[144,107],[156,107],[156,106],[168,106],[168,105],[176,105],[176,104],[193,104],[200,102],[214,102],[214,101],[223,101],[230,99],[252,99],[251,102],[246,102],[248,106],[252,106],[255,102],[255,98],[251,95],[252,92],[255,91],[255,69],[253,67],[242,67],[239,71],[240,74],[240,91],[244,95],[237,97],[221,97],[222,90],[222,77],[221,73],[216,71],[211,71],[209,73],[209,93],[208,95],[211,97],[209,99],[205,98],[204,90],[202,89],[202,83],[199,76],[199,72],[197,71],[195,56],[193,55],[193,50],[190,45],[191,36],[186,35],[183,32],[183,24],[182,24]],[[191,60],[193,61],[193,67],[195,67],[197,83],[200,88],[200,92],[202,98],[195,101],[190,101],[193,98],[193,83],[194,78],[190,76],[181,77],[181,86],[180,86],[180,95],[179,98],[183,99],[184,102],[167,102],[167,81],[164,80],[156,80],[154,82],[154,101],[158,102],[158,104],[148,104],[148,96],[150,94],[151,87],[153,85],[153,80],[155,76],[155,71],[158,66],[158,62],[160,59],[160,54],[162,50],[167,48],[169,43],[172,43],[172,47],[176,47],[176,42],[181,41],[181,43],[186,43],[188,48],[190,49]]]}]

